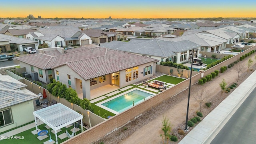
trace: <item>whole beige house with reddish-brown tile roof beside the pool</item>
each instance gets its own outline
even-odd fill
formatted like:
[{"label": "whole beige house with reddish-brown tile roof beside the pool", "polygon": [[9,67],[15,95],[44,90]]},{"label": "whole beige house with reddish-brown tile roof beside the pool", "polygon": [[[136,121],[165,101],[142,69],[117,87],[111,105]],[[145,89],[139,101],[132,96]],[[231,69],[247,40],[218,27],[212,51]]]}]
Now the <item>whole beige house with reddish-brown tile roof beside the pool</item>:
[{"label": "whole beige house with reddish-brown tile roof beside the pool", "polygon": [[90,100],[90,91],[109,84],[120,88],[150,78],[156,72],[154,58],[145,58],[108,48],[44,48],[39,53],[16,58],[26,72],[37,72],[38,79],[50,77],[66,84],[83,98]]}]

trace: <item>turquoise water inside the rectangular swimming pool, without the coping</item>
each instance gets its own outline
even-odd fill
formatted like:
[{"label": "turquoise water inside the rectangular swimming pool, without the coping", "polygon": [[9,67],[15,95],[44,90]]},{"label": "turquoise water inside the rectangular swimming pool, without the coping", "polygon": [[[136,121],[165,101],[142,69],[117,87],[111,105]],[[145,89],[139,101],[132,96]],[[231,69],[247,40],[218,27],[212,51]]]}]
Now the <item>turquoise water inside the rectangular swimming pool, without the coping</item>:
[{"label": "turquoise water inside the rectangular swimming pool, without the coping", "polygon": [[152,96],[152,94],[142,92],[140,90],[133,90],[132,92],[128,92],[113,100],[105,102],[102,105],[116,112],[123,112],[124,110],[127,110],[128,108],[132,107],[133,102],[134,105],[136,105],[137,103],[143,101],[144,98],[147,98],[149,96]]}]

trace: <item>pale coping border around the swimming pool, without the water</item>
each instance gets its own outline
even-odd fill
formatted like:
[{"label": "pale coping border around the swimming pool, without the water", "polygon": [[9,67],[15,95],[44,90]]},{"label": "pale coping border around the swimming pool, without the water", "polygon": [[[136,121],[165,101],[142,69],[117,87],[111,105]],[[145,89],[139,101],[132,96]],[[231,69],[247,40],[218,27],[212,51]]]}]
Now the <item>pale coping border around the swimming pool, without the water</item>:
[{"label": "pale coping border around the swimming pool, without the water", "polygon": [[[110,109],[110,108],[108,108],[108,107],[106,107],[106,106],[103,106],[102,104],[105,103],[105,102],[108,102],[108,101],[110,101],[110,100],[113,100],[113,99],[115,99],[115,98],[118,98],[119,96],[122,96],[122,95],[124,95],[124,94],[127,94],[128,92],[132,92],[132,91],[134,91],[134,90],[140,90],[140,91],[142,91],[142,92],[146,92],[146,93],[152,94],[153,96],[156,95],[155,93],[149,92],[148,90],[143,90],[143,89],[141,89],[141,88],[132,88],[131,90],[128,90],[128,91],[126,91],[126,92],[122,92],[121,94],[118,94],[118,95],[116,95],[116,96],[113,96],[113,97],[111,97],[111,98],[108,98],[107,100],[103,100],[102,102],[99,102],[99,103],[97,103],[97,104],[95,104],[95,105],[98,106],[98,107],[100,107],[100,108],[103,108],[104,110],[107,110],[107,111],[109,111],[109,112],[112,112],[113,114],[119,114],[120,112],[116,112],[115,110],[112,110],[112,109]],[[152,96],[148,96],[147,98],[145,98],[145,100],[148,99],[148,98],[150,98],[150,97],[152,97]],[[128,109],[129,109],[129,108],[128,108]]]}]

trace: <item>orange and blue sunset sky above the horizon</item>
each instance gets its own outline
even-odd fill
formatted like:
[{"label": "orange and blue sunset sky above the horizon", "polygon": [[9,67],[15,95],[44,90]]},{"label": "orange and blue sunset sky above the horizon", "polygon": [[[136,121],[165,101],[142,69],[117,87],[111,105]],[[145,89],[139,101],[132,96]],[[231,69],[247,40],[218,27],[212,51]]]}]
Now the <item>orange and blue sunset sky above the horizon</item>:
[{"label": "orange and blue sunset sky above the horizon", "polygon": [[255,0],[4,0],[0,18],[256,17]]}]

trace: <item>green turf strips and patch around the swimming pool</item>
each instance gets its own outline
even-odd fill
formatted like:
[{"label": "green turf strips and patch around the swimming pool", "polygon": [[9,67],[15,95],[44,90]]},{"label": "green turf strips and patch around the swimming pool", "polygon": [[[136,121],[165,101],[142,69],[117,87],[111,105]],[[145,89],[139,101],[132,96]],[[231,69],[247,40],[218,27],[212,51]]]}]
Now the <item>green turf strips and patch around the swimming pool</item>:
[{"label": "green turf strips and patch around the swimming pool", "polygon": [[[174,76],[163,75],[163,76],[160,76],[160,77],[158,77],[158,78],[154,78],[154,79],[151,79],[151,80],[148,80],[148,81],[152,81],[152,80],[159,80],[159,81],[166,82],[166,83],[178,84],[178,83],[182,82],[182,81],[185,80],[185,79],[184,79],[184,78],[174,77]],[[101,115],[101,116],[104,115],[105,113],[107,113],[107,116],[114,116],[115,114],[113,114],[112,112],[109,112],[109,111],[107,111],[107,110],[105,110],[105,109],[103,109],[103,108],[100,108],[100,107],[96,106],[95,104],[97,104],[97,103],[99,103],[99,102],[102,102],[102,101],[104,101],[104,100],[107,100],[108,98],[112,98],[113,96],[116,96],[116,95],[121,94],[121,93],[123,93],[123,92],[126,92],[126,91],[128,91],[128,90],[131,90],[131,89],[133,89],[133,88],[139,88],[138,86],[141,86],[141,85],[142,85],[142,84],[139,84],[139,85],[131,84],[130,86],[133,86],[132,88],[129,88],[129,89],[127,89],[127,90],[124,90],[124,91],[119,92],[119,93],[117,93],[117,94],[114,94],[114,95],[112,95],[112,96],[109,96],[109,97],[104,98],[104,99],[102,99],[102,100],[99,100],[99,101],[97,101],[97,102],[94,102],[94,103],[92,104],[92,106],[94,107],[94,114],[97,114],[97,115],[98,115],[98,110],[100,110],[100,115]],[[144,89],[144,90],[146,90],[146,89]],[[150,90],[147,90],[147,91],[150,91]],[[150,91],[150,92],[153,92],[153,91]],[[158,94],[158,92],[153,92],[153,93]]]}]

